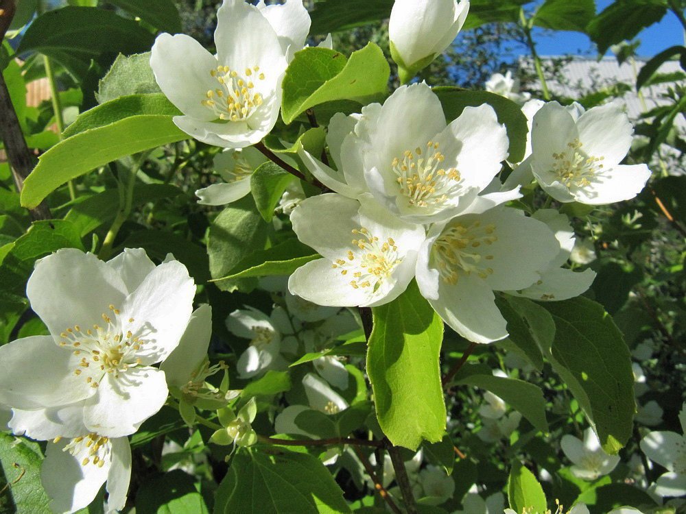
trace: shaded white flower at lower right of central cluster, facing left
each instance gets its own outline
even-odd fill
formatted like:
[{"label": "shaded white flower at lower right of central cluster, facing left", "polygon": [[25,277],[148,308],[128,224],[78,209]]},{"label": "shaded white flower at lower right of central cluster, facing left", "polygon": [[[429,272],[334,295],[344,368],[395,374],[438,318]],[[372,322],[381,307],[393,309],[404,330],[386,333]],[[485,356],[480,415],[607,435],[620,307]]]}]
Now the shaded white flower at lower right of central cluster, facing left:
[{"label": "shaded white flower at lower right of central cluster, facing left", "polygon": [[493,291],[530,286],[559,250],[545,223],[514,209],[464,215],[431,227],[417,259],[417,284],[453,330],[490,343],[508,335]]}]

